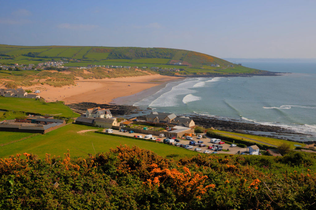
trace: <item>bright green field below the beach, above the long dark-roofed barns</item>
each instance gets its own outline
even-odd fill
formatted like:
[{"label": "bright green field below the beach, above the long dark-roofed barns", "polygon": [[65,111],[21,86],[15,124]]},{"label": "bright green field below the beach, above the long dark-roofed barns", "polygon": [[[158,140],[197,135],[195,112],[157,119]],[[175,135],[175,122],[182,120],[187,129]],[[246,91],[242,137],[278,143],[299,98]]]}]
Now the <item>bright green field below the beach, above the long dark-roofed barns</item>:
[{"label": "bright green field below the beach, above the long dark-roofed barns", "polygon": [[[62,103],[41,103],[31,98],[0,97],[0,109],[11,111],[31,112],[38,114],[60,114],[58,117],[72,118],[72,110]],[[79,114],[74,113],[74,117]]]}]

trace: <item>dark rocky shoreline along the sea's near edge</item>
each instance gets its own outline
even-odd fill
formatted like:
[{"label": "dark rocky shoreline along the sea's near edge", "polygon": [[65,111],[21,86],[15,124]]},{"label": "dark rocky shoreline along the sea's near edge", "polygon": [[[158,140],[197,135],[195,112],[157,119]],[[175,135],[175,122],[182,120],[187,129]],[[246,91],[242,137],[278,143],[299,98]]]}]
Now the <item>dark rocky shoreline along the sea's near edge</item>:
[{"label": "dark rocky shoreline along the sea's near edge", "polygon": [[[118,105],[118,104],[97,104],[92,102],[81,102],[81,103],[73,103],[68,104],[68,107],[73,109],[78,113],[85,113],[88,108],[100,107],[100,108],[108,108],[111,110],[113,116],[120,117],[124,116],[128,118],[128,115],[138,115],[137,117],[140,119],[146,119],[146,115],[149,114],[149,109],[141,109],[139,107],[131,106],[131,105]],[[214,129],[219,129],[222,131],[231,131],[236,133],[271,137],[289,140],[293,142],[302,142],[298,141],[301,139],[305,139],[309,135],[304,133],[297,133],[291,130],[278,127],[278,126],[270,126],[270,125],[260,125],[256,123],[246,123],[240,122],[238,120],[223,120],[216,117],[208,117],[202,115],[190,115],[190,118],[194,120],[196,125],[203,126],[205,128],[213,127]],[[264,134],[260,133],[264,132]],[[298,140],[293,140],[293,138]],[[291,139],[292,138],[292,139]],[[313,141],[304,141],[304,143],[314,143]]]}]

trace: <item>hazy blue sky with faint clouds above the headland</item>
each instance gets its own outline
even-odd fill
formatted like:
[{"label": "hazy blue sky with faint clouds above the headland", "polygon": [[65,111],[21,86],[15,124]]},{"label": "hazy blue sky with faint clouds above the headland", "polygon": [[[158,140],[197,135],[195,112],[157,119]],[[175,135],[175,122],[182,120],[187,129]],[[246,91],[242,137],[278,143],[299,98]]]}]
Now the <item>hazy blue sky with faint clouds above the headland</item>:
[{"label": "hazy blue sky with faint clouds above the headland", "polygon": [[0,44],[316,58],[315,0],[0,0]]}]

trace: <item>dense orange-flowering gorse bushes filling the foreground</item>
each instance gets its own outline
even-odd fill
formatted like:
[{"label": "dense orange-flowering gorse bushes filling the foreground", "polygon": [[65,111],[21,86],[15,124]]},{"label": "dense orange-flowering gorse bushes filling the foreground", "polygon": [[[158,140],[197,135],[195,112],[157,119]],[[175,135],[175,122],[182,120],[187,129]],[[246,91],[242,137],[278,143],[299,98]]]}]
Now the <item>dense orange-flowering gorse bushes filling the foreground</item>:
[{"label": "dense orange-flowering gorse bushes filling the foreground", "polygon": [[0,159],[0,209],[314,209],[316,201],[313,154],[173,160],[119,146],[85,158],[23,155]]}]

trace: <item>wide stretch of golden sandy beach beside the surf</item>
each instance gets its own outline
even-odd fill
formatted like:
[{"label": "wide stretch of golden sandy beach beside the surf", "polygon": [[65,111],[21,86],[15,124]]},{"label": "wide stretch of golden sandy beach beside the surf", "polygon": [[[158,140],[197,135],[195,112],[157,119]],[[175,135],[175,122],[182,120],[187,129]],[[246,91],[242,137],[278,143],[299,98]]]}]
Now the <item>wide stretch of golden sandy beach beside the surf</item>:
[{"label": "wide stretch of golden sandy beach beside the surf", "polygon": [[118,97],[130,96],[168,81],[182,78],[155,74],[110,79],[78,79],[76,80],[76,85],[71,86],[34,85],[22,88],[33,91],[40,89],[39,95],[48,102],[58,100],[64,101],[66,104],[78,102],[102,104],[110,103]]}]

